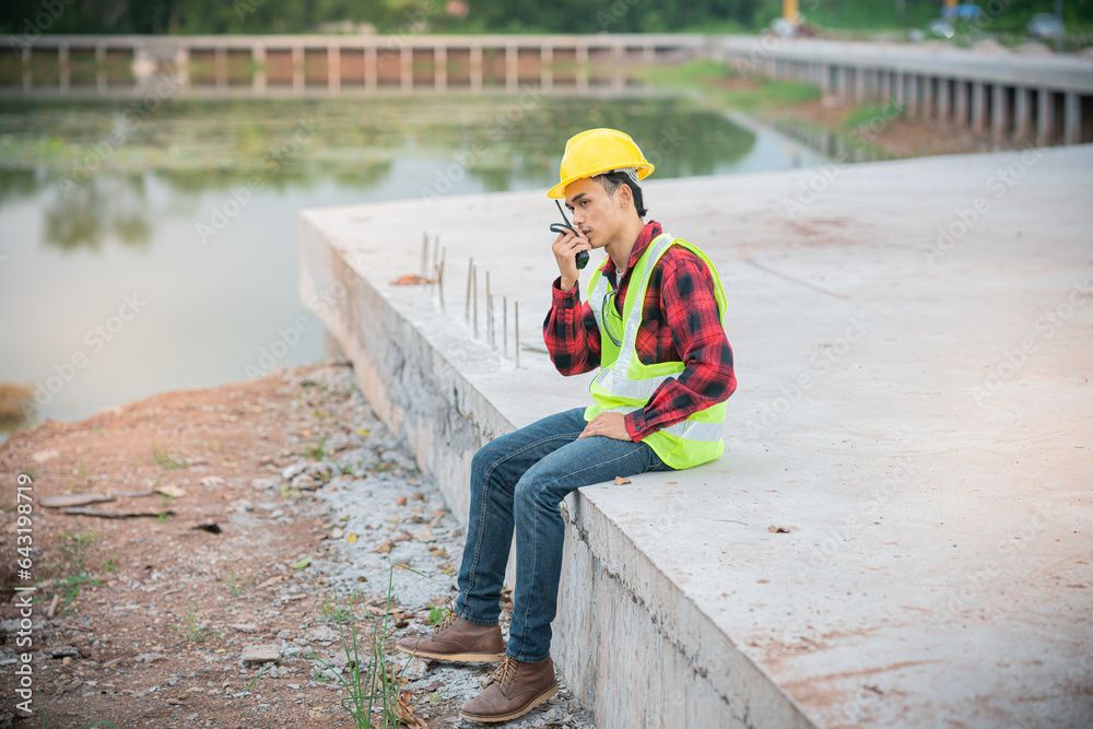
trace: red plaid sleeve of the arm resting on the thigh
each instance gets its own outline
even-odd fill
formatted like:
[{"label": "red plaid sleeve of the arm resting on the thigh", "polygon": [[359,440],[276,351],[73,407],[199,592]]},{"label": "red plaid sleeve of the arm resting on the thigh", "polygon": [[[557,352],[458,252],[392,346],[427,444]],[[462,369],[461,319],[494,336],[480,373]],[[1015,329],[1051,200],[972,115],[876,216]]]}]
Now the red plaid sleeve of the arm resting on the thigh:
[{"label": "red plaid sleeve of the arm resting on the thigh", "polygon": [[[724,402],[737,389],[732,349],[717,310],[709,269],[681,246],[672,246],[669,251],[658,263],[661,269],[659,314],[671,330],[671,340],[684,369],[678,377],[661,383],[644,409],[626,415],[626,431],[634,440]],[[650,290],[653,287],[650,285]],[[647,298],[646,306],[653,304],[655,302]],[[637,349],[639,356],[645,354],[643,362],[651,360],[640,341]]]}]

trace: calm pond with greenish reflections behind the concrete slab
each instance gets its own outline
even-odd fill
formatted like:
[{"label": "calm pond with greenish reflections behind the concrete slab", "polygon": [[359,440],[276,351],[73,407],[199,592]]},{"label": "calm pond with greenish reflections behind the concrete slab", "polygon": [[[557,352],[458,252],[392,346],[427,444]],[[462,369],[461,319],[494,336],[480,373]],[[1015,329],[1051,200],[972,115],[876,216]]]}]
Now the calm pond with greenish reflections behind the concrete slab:
[{"label": "calm pond with greenish reflections behind the concrete slab", "polygon": [[[658,179],[824,161],[674,96],[142,104],[0,104],[0,384],[31,388],[31,422],[246,379],[299,316],[315,326],[279,362],[321,360],[297,296],[301,208],[545,192],[590,127],[673,140]],[[467,174],[444,175],[457,160]]]}]

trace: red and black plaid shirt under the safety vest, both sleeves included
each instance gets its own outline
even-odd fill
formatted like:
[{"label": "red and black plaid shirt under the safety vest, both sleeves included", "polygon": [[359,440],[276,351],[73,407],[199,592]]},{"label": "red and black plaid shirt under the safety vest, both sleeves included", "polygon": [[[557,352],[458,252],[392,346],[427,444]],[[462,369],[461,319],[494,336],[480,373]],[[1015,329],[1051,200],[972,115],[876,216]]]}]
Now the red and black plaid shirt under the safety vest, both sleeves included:
[{"label": "red and black plaid shirt under the safety vest, both sleeves included", "polygon": [[[620,314],[630,273],[660,232],[656,221],[642,230],[621,282],[615,281],[610,256],[600,267],[619,289],[613,303]],[[600,366],[600,330],[588,302],[580,302],[580,283],[572,291],[562,291],[561,284],[559,277],[543,321],[543,341],[560,373],[579,375]],[[626,432],[634,440],[722,402],[737,389],[732,349],[717,310],[714,279],[703,260],[683,246],[671,246],[653,269],[636,349],[645,364],[683,362],[684,369],[661,383],[644,409],[626,414]]]}]

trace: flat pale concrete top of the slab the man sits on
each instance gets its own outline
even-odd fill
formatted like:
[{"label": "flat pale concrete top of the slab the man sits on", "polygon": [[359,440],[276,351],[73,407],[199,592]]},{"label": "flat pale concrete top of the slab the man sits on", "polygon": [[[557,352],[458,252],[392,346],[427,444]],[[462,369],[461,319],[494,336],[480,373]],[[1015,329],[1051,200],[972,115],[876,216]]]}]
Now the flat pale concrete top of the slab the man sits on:
[{"label": "flat pale concrete top of the slab the man sits on", "polygon": [[[725,282],[726,455],[581,495],[819,726],[1093,716],[1091,171],[1077,146],[645,186]],[[514,425],[587,403],[542,345],[544,191],[302,215]],[[387,285],[423,230],[446,315]],[[470,256],[498,319],[520,303],[519,369],[512,308],[508,356],[484,304],[472,341]]]}]

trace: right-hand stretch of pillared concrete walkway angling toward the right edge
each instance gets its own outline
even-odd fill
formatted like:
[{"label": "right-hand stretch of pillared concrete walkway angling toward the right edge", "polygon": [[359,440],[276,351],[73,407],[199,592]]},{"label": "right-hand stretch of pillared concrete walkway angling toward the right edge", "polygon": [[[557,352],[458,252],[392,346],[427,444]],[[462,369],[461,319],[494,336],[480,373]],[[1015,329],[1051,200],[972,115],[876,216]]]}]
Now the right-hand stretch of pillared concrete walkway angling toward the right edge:
[{"label": "right-hand stretch of pillared concrete walkway angling toward the right edge", "polygon": [[819,86],[845,104],[895,102],[912,117],[1019,143],[1093,141],[1093,60],[945,46],[730,38],[741,71]]}]

